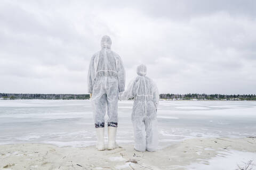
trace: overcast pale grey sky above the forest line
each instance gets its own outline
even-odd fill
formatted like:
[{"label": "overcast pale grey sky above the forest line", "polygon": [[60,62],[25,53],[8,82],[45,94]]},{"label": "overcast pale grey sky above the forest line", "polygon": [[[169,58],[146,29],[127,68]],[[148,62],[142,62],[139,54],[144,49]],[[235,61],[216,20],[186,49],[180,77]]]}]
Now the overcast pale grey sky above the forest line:
[{"label": "overcast pale grey sky above the forest line", "polygon": [[0,2],[0,92],[86,94],[103,35],[159,92],[256,93],[256,1]]}]

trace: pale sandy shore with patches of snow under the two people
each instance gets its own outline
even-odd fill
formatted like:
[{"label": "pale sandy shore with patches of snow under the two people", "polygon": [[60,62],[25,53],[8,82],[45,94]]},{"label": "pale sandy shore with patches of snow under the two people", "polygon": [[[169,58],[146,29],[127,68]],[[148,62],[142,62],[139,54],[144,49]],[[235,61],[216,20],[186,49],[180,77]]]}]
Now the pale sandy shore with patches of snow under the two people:
[{"label": "pale sandy shore with patches of snow under the two people", "polygon": [[158,150],[138,152],[132,145],[115,150],[44,144],[0,146],[0,169],[239,169],[252,160],[255,138],[196,138]]}]

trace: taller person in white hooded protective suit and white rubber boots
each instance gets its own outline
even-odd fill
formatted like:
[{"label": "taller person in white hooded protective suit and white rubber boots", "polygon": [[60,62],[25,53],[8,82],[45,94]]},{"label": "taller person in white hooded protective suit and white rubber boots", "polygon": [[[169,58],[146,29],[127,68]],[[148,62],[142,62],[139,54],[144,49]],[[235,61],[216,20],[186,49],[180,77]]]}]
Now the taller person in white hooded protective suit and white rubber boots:
[{"label": "taller person in white hooded protective suit and white rubber boots", "polygon": [[95,53],[88,72],[88,89],[93,106],[97,149],[104,150],[105,114],[108,113],[108,149],[116,148],[117,102],[125,88],[125,71],[121,57],[111,50],[111,39],[103,36],[101,50]]}]

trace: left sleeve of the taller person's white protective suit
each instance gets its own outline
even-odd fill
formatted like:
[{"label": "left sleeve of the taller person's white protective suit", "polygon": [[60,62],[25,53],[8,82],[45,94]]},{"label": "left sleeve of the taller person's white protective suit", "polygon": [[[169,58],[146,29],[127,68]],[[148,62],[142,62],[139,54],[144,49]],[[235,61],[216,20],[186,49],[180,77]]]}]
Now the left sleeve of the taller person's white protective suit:
[{"label": "left sleeve of the taller person's white protective suit", "polygon": [[95,55],[91,58],[91,62],[89,65],[89,71],[87,74],[87,86],[88,86],[89,94],[92,94],[95,76],[96,76],[96,71],[95,71],[95,66],[94,66],[94,58],[95,58]]}]

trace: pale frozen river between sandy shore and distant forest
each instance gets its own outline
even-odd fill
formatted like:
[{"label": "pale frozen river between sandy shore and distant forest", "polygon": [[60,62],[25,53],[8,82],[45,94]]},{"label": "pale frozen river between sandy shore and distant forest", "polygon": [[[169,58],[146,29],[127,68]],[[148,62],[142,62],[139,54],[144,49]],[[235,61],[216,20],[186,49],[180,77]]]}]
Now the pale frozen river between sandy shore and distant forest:
[{"label": "pale frozen river between sandy shore and distant forest", "polygon": [[[120,144],[133,143],[132,104],[119,101]],[[0,100],[0,144],[94,145],[92,117],[89,100]],[[157,117],[160,147],[195,137],[256,136],[253,101],[161,101]]]}]

